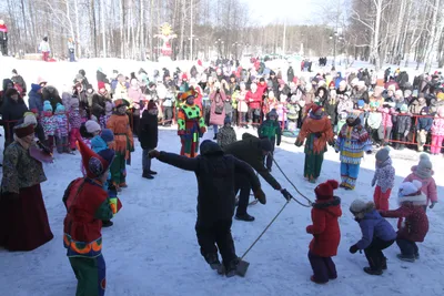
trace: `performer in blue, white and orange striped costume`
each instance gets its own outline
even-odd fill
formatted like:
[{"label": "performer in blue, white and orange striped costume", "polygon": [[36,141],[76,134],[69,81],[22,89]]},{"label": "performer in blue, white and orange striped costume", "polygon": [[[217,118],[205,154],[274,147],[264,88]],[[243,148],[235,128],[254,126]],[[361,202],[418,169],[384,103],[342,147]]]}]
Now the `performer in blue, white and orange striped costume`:
[{"label": "performer in blue, white and orange striped costume", "polygon": [[342,183],[340,187],[354,190],[364,151],[367,154],[372,153],[372,141],[356,113],[349,113],[346,124],[342,126],[337,135],[335,151],[341,152]]}]

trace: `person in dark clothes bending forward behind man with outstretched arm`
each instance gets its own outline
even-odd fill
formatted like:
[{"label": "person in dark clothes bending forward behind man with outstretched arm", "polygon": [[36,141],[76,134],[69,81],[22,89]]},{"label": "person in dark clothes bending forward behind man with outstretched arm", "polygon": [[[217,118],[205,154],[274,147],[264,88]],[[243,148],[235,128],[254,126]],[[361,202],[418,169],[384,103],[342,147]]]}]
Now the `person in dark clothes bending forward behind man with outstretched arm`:
[{"label": "person in dark clothes bending forward behind man with outstretched arm", "polygon": [[[244,133],[242,140],[238,141],[224,149],[226,154],[232,154],[234,157],[250,164],[274,190],[280,191],[285,200],[290,201],[291,195],[281,184],[270,174],[265,167],[264,159],[272,151],[272,143],[269,139],[259,139],[252,134]],[[239,206],[235,220],[252,222],[254,217],[246,213],[249,206],[250,191],[253,184],[243,175],[235,176],[235,193],[240,192]],[[266,201],[259,200],[261,204]]]}]

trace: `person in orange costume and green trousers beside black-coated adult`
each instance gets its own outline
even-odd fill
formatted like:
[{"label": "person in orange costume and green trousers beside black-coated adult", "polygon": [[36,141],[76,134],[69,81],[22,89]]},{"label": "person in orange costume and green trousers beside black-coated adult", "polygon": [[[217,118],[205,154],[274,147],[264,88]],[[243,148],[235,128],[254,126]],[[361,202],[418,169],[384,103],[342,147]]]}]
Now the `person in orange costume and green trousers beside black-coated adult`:
[{"label": "person in orange costume and green trousers beside black-coated adult", "polygon": [[110,149],[115,151],[115,160],[111,165],[111,180],[118,191],[127,185],[125,163],[131,164],[130,153],[134,151],[134,139],[132,136],[130,120],[127,115],[127,108],[130,103],[127,100],[115,100],[115,113],[107,122],[107,129],[114,133],[114,143]]}]

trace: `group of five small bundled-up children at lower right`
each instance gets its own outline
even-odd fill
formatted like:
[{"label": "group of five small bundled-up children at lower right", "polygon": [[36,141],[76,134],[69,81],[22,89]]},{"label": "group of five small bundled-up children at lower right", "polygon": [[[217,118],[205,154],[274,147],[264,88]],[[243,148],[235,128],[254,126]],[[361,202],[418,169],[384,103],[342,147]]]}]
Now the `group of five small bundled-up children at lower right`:
[{"label": "group of five small bundled-up children at lower right", "polygon": [[[384,147],[376,153],[376,171],[372,186],[376,185],[374,201],[355,200],[350,206],[351,213],[359,223],[362,238],[350,247],[350,253],[364,251],[369,266],[364,272],[370,275],[382,275],[387,268],[383,249],[396,242],[401,253],[397,258],[415,262],[420,258],[416,243],[424,242],[428,232],[427,207],[437,203],[436,184],[433,178],[432,162],[422,154],[412,173],[400,185],[397,198],[400,207],[389,210],[389,198],[394,187],[395,169],[392,166],[390,150]],[[333,191],[339,187],[336,181],[327,181],[314,190],[316,202],[313,204],[313,225],[306,227],[313,234],[310,244],[309,259],[313,268],[312,282],[324,284],[337,277],[332,256],[337,253],[341,234],[337,218],[342,215],[341,200]],[[398,218],[395,232],[385,217]]]}]

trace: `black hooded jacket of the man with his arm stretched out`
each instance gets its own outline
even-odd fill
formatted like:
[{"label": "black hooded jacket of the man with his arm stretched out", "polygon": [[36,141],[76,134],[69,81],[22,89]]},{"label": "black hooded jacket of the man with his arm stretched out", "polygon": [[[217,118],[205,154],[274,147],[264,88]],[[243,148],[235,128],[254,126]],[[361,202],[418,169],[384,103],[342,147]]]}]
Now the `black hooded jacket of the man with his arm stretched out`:
[{"label": "black hooded jacket of the man with his arm stretched out", "polygon": [[198,223],[212,224],[221,220],[231,221],[234,215],[236,174],[245,175],[253,191],[261,187],[254,171],[246,163],[225,155],[212,141],[203,141],[201,155],[195,159],[161,152],[159,161],[195,173],[198,178]]}]

